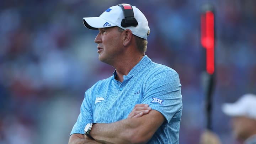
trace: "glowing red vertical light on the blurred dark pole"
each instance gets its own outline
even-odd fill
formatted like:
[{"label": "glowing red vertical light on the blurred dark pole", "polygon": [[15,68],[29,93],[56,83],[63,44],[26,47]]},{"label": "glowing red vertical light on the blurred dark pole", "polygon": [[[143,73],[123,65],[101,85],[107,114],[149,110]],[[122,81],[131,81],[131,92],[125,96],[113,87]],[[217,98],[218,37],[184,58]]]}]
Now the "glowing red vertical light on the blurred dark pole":
[{"label": "glowing red vertical light on the blurred dark pole", "polygon": [[206,71],[214,73],[214,14],[207,11],[201,15],[201,44],[206,49]]}]

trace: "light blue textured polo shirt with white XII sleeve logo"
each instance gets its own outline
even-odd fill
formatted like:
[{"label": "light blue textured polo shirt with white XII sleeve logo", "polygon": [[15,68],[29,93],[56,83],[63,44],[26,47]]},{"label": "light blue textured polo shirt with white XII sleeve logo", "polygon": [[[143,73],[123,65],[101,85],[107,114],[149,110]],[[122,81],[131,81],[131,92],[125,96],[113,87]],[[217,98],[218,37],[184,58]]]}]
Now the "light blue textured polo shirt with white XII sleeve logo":
[{"label": "light blue textured polo shirt with white XII sleeve logo", "polygon": [[71,133],[84,134],[87,123],[112,123],[126,119],[136,104],[149,104],[166,121],[149,140],[149,144],[178,144],[182,114],[181,84],[177,72],[156,64],[146,55],[123,76],[115,80],[116,71],[98,81],[85,92],[81,112]]}]

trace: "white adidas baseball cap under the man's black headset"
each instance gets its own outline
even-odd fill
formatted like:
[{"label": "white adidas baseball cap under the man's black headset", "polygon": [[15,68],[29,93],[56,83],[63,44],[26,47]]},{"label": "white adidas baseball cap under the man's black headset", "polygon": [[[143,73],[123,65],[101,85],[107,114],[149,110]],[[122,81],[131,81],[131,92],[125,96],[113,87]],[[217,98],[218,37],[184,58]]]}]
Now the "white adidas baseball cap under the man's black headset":
[{"label": "white adidas baseball cap under the man's black headset", "polygon": [[[130,6],[129,4],[122,4],[123,6]],[[99,17],[84,17],[84,25],[92,30],[98,28],[118,26],[124,30],[129,29],[135,36],[147,39],[150,33],[148,20],[144,14],[135,6],[132,6],[134,18],[137,20],[137,26],[122,27],[121,22],[124,19],[124,11],[121,6],[112,6],[104,11]]]}]

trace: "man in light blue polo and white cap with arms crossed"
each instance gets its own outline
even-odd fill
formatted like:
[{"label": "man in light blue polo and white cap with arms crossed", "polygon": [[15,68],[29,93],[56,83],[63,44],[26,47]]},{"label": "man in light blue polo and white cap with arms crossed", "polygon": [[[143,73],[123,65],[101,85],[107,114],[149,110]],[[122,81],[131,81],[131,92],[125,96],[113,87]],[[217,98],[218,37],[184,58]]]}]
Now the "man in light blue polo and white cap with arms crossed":
[{"label": "man in light blue polo and white cap with arms crossed", "polygon": [[98,58],[112,76],[85,92],[69,144],[178,144],[182,114],[179,76],[145,55],[148,21],[135,6],[120,4],[83,18],[98,30]]}]

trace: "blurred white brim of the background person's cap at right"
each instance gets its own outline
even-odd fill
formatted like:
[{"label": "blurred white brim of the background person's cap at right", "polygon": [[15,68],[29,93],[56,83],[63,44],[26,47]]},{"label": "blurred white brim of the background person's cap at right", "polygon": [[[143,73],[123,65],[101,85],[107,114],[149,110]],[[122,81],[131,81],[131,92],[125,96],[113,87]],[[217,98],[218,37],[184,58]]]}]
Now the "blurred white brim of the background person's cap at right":
[{"label": "blurred white brim of the background person's cap at right", "polygon": [[233,103],[224,103],[222,105],[222,111],[231,117],[244,115],[244,109]]}]

